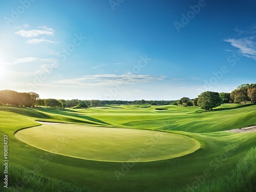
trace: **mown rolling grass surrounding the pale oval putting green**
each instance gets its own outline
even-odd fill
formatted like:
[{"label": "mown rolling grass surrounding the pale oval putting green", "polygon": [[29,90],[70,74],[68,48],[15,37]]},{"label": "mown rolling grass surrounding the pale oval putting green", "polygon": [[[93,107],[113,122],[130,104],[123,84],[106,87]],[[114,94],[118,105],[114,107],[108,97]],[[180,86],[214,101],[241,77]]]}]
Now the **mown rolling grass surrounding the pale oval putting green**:
[{"label": "mown rolling grass surrounding the pale oval putting green", "polygon": [[[249,148],[256,145],[256,132],[219,132],[255,125],[256,105],[225,104],[209,112],[171,105],[163,106],[167,110],[162,111],[154,106],[118,107],[59,110],[0,106],[0,137],[9,137],[10,163],[32,172],[27,179],[41,174],[100,191],[167,191],[196,186],[195,181],[205,172],[205,182],[228,175]],[[194,138],[201,147],[185,156],[133,164],[77,159],[42,151],[14,137],[19,129],[39,125],[35,120],[85,124],[96,129],[157,130]]]}]

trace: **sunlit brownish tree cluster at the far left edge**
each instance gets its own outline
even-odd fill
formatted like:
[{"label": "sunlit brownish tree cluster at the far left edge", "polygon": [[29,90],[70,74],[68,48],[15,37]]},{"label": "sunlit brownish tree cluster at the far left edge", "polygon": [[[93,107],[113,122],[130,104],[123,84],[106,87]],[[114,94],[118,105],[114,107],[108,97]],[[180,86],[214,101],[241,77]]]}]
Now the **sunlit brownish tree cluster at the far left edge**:
[{"label": "sunlit brownish tree cluster at the far left edge", "polygon": [[39,95],[34,92],[19,93],[12,90],[0,91],[0,104],[13,106],[35,106]]}]

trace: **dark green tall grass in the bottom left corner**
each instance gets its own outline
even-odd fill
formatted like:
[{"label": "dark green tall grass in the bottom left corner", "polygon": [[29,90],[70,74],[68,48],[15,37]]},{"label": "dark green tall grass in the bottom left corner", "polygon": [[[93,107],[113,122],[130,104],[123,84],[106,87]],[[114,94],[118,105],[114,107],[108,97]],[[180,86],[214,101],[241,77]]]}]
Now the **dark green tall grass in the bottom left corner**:
[{"label": "dark green tall grass in the bottom left corner", "polygon": [[4,187],[4,166],[0,170],[1,186],[0,191],[12,192],[96,192],[90,187],[79,187],[58,179],[49,178],[35,174],[29,169],[19,165],[9,165],[8,188]]}]

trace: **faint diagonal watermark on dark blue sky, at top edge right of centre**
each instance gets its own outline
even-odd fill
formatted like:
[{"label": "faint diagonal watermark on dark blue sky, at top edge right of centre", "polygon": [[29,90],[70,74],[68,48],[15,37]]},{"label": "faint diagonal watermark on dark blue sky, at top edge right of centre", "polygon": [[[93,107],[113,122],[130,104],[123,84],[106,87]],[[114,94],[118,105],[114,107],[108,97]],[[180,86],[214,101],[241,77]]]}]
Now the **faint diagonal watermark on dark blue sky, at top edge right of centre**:
[{"label": "faint diagonal watermark on dark blue sky, at top edge right of centre", "polygon": [[195,16],[201,11],[201,8],[204,8],[205,6],[205,0],[199,0],[197,5],[190,5],[190,10],[186,14],[181,14],[180,22],[174,22],[174,26],[178,33],[180,32],[180,28],[184,28],[187,24],[189,24],[190,20],[195,18]]}]

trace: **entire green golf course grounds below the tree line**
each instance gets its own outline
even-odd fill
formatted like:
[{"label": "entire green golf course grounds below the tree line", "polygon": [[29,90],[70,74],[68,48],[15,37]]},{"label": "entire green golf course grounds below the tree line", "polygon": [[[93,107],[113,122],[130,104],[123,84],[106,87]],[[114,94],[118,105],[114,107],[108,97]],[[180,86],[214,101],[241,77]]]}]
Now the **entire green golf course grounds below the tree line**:
[{"label": "entire green golf course grounds below the tree line", "polygon": [[3,190],[253,191],[256,132],[225,131],[256,125],[255,117],[253,103],[207,112],[177,105],[3,105],[0,136],[8,136],[9,149]]}]

